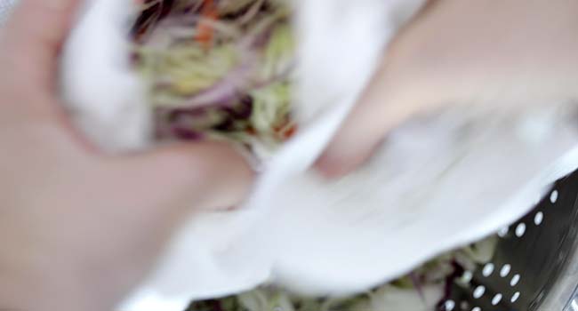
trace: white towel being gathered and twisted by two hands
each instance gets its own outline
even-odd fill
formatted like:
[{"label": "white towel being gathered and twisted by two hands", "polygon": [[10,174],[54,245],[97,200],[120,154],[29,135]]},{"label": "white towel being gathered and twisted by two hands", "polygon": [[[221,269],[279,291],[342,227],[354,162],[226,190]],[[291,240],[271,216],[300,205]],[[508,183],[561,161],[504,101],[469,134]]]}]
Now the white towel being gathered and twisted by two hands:
[{"label": "white towel being gathered and twisted by two hands", "polygon": [[[578,167],[574,105],[548,103],[449,108],[399,127],[345,179],[309,171],[423,2],[293,1],[301,132],[243,207],[181,228],[124,310],[181,310],[266,282],[310,295],[365,291],[508,225]],[[128,0],[88,1],[62,60],[76,124],[114,152],[152,145],[145,90],[128,59],[133,15]]]}]

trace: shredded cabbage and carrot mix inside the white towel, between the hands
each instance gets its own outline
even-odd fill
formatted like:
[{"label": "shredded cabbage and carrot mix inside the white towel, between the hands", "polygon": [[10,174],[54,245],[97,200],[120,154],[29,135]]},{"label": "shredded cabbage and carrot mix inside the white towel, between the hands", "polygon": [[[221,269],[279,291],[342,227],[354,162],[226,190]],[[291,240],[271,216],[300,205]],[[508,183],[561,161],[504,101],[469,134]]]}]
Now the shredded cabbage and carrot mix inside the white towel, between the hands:
[{"label": "shredded cabbage and carrot mix inside the white towel, between the hands", "polygon": [[230,140],[270,153],[291,117],[290,9],[274,0],[148,0],[132,28],[159,140]]}]

